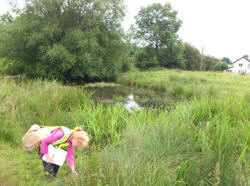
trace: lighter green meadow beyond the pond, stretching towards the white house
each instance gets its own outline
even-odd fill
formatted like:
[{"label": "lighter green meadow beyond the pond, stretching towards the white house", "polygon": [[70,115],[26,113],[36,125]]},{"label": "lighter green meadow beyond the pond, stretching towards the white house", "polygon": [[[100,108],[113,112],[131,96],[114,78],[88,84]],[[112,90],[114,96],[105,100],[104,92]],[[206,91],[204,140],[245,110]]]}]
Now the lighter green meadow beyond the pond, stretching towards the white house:
[{"label": "lighter green meadow beyond the pond, stretching towards the white house", "polygon": [[204,95],[224,98],[234,95],[248,97],[250,76],[219,72],[191,72],[181,70],[158,70],[127,72],[117,82],[169,92],[177,98],[202,97]]}]

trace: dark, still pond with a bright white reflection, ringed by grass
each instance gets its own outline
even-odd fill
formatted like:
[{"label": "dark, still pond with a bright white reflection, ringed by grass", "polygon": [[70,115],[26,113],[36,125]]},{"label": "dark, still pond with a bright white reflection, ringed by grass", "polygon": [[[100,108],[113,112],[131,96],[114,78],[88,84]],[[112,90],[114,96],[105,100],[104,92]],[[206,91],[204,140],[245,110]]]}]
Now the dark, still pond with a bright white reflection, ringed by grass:
[{"label": "dark, still pond with a bright white reflection, ringed by grass", "polygon": [[142,108],[168,108],[176,101],[166,92],[136,89],[123,85],[105,87],[84,87],[95,102],[105,104],[120,103],[128,110]]}]

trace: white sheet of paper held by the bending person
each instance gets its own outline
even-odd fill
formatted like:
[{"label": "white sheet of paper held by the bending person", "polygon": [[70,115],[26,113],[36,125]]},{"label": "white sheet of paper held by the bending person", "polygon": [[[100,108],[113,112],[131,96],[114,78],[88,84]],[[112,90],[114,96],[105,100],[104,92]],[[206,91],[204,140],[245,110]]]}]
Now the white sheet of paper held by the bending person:
[{"label": "white sheet of paper held by the bending person", "polygon": [[[52,163],[62,166],[65,162],[66,156],[67,156],[67,151],[62,150],[62,149],[57,149],[53,145],[48,146],[48,152],[49,156],[52,159]],[[46,156],[43,155],[42,160],[46,161]]]}]

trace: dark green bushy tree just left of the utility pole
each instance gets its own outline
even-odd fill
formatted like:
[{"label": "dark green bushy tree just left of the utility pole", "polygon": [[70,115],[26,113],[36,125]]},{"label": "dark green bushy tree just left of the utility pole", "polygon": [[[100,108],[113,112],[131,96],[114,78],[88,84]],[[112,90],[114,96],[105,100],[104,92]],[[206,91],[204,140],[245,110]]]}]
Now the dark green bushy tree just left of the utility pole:
[{"label": "dark green bushy tree just left of the utility pole", "polygon": [[184,49],[183,56],[186,62],[186,69],[187,70],[199,70],[200,61],[201,61],[201,54],[199,50],[188,43],[185,43],[184,45],[185,45],[185,49]]}]

